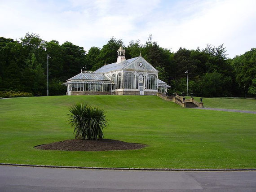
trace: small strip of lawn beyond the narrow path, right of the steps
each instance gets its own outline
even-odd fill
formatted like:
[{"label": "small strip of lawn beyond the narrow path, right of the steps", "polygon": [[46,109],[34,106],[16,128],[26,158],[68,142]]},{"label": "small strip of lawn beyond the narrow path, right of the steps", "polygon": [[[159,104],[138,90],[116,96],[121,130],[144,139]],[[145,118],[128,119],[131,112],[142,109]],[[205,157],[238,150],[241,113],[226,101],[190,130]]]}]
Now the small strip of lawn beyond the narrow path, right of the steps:
[{"label": "small strip of lawn beyond the narrow path, right of the steps", "polygon": [[[186,97],[188,99],[190,97]],[[200,102],[200,97],[194,97]],[[221,109],[238,109],[256,111],[256,99],[254,98],[203,98],[204,107],[213,107]]]}]

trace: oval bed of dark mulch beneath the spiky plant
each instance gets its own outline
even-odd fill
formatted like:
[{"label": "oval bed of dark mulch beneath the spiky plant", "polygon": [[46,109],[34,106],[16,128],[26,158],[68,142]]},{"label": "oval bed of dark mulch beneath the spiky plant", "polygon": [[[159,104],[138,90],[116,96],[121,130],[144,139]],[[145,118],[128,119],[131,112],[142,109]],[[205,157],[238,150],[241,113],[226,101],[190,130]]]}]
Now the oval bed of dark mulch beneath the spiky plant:
[{"label": "oval bed of dark mulch beneath the spiky plant", "polygon": [[119,140],[65,140],[50,144],[35,146],[44,150],[63,150],[63,151],[111,151],[128,150],[146,147],[145,144],[126,143]]}]

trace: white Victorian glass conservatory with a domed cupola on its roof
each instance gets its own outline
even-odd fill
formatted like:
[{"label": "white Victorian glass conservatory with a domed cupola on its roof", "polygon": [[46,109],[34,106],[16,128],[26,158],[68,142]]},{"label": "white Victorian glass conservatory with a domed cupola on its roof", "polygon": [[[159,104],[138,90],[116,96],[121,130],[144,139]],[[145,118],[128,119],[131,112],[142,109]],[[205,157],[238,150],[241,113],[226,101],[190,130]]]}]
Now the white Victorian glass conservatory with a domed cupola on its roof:
[{"label": "white Victorian glass conservatory with a domed cupola on its roof", "polygon": [[[115,63],[103,65],[98,70],[81,71],[68,79],[67,95],[157,95],[170,87],[158,79],[156,70],[141,55],[125,59],[121,46]],[[158,91],[159,90],[159,91]]]}]

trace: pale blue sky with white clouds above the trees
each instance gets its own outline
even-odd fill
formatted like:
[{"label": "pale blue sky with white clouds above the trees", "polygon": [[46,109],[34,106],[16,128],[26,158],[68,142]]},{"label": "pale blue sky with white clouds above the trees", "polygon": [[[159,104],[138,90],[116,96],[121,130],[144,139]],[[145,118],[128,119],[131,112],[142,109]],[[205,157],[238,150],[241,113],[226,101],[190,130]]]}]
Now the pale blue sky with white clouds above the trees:
[{"label": "pale blue sky with white clouds above the trees", "polygon": [[256,48],[256,0],[0,0],[0,36],[27,32],[88,50],[152,35],[162,48],[224,44],[227,57]]}]

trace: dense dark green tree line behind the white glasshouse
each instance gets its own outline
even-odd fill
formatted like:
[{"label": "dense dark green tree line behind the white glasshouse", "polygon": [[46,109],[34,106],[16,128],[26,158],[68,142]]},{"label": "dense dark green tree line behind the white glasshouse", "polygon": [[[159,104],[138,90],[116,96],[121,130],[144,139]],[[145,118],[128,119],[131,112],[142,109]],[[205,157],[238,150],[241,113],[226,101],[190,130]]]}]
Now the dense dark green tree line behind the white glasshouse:
[{"label": "dense dark green tree line behind the white glasshouse", "polygon": [[189,92],[194,96],[243,96],[244,90],[256,95],[256,48],[243,55],[227,58],[223,44],[206,48],[179,48],[177,52],[161,48],[152,41],[145,44],[132,40],[125,46],[122,39],[111,38],[102,48],[83,47],[66,41],[44,41],[39,35],[26,33],[20,40],[0,37],[0,91],[28,92],[34,96],[47,94],[47,55],[49,59],[49,95],[64,95],[62,83],[83,70],[97,70],[105,63],[116,62],[120,44],[126,59],[141,56],[159,70],[159,79],[173,92],[186,92],[188,70]]}]

